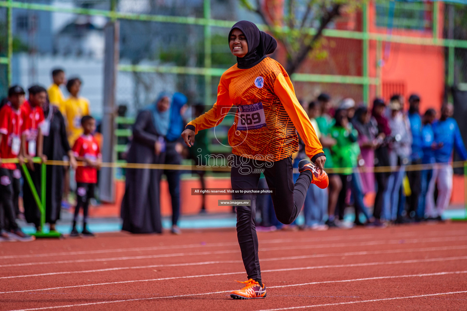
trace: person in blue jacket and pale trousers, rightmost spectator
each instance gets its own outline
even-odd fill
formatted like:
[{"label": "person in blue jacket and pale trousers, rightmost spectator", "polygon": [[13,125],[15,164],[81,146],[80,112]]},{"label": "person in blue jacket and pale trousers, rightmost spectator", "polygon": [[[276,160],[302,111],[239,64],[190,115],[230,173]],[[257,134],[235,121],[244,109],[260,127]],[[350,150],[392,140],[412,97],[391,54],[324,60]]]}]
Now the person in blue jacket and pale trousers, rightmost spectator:
[{"label": "person in blue jacket and pale trousers, rightmost spectator", "polygon": [[[441,107],[441,117],[433,124],[434,141],[438,143],[435,150],[435,161],[438,164],[433,170],[432,180],[428,186],[426,212],[428,217],[442,220],[441,214],[449,205],[453,191],[453,167],[451,166],[453,149],[460,158],[467,159],[467,150],[460,135],[459,126],[452,118],[453,104],[444,104]],[[438,185],[438,200],[434,206],[433,193],[435,182]]]}]

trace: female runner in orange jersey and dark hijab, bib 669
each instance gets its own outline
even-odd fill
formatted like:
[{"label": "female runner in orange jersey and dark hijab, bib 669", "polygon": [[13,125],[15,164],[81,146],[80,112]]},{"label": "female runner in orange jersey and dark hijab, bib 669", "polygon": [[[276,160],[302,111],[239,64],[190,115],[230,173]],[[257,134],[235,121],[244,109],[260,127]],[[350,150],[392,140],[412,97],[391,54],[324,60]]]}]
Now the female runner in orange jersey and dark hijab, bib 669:
[{"label": "female runner in orange jersey and dark hijab, bib 669", "polygon": [[[300,212],[310,183],[325,188],[328,178],[323,166],[325,156],[310,119],[298,103],[285,69],[267,57],[276,49],[276,40],[250,21],[233,25],[228,36],[230,51],[237,63],[221,76],[217,102],[205,114],[186,125],[182,133],[191,147],[200,130],[219,124],[232,105],[237,106],[235,120],[228,131],[233,160],[232,188],[256,188],[261,172],[272,195],[279,221],[290,224]],[[298,151],[297,131],[305,152],[318,168],[307,160],[299,162],[300,176],[293,183],[292,153]],[[251,200],[250,206],[237,206],[237,237],[248,281],[230,297],[251,299],[266,297],[261,282],[258,237],[255,228],[255,194],[234,194],[234,200]]]}]

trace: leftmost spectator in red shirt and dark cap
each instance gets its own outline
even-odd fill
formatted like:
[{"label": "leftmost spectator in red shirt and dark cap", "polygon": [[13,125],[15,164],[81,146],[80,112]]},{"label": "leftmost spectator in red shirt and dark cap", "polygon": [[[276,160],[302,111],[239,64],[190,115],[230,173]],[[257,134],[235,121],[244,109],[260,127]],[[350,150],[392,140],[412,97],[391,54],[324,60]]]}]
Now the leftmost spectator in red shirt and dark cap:
[{"label": "leftmost spectator in red shirt and dark cap", "polygon": [[[20,165],[23,163],[21,150],[21,136],[27,135],[20,107],[24,102],[24,90],[19,85],[12,86],[8,90],[8,103],[0,110],[0,238],[3,241],[18,240],[32,241],[34,236],[21,231],[16,224],[16,215],[13,205],[13,172],[16,169],[14,163],[2,163],[2,159],[18,158]],[[9,231],[9,232],[8,232]]]}]

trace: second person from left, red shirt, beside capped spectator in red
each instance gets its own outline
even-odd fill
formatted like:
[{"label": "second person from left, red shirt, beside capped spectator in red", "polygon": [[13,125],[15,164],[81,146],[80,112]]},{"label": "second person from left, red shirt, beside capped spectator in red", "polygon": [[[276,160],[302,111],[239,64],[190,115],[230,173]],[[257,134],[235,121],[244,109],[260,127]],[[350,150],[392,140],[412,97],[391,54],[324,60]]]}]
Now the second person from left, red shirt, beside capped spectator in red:
[{"label": "second person from left, red shirt, beside capped spectator in red", "polygon": [[[42,126],[44,122],[44,111],[42,105],[47,100],[47,90],[39,85],[33,85],[28,89],[29,99],[21,105],[21,115],[23,117],[25,128],[28,130],[27,135],[23,135],[21,139],[23,156],[28,159],[28,173],[31,176],[34,187],[38,194],[41,193],[41,165],[33,163],[32,158],[41,157],[42,161],[46,161],[46,157],[42,155]],[[50,177],[49,177],[50,178]],[[23,176],[23,179],[25,177]],[[23,185],[23,205],[24,216],[26,221],[34,223],[37,231],[41,231],[41,212],[34,200],[32,190],[27,182]]]}]

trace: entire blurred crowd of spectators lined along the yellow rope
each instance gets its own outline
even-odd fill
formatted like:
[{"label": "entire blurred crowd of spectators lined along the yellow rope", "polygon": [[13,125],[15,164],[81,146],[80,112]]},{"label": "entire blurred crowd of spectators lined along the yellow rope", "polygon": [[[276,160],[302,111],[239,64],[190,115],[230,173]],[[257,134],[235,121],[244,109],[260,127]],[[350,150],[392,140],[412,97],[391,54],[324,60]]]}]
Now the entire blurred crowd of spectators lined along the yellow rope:
[{"label": "entire blurred crowd of spectators lined along the yellow rope", "polygon": [[[90,116],[89,102],[79,96],[82,81],[65,79],[63,69],[51,73],[48,89],[32,85],[26,92],[19,85],[8,90],[0,107],[0,239],[32,241],[18,227],[16,219],[24,218],[42,230],[41,213],[36,200],[41,194],[41,163],[50,160],[69,161],[69,165],[46,166],[47,187],[45,222],[54,231],[62,207],[68,207],[70,181],[76,189],[71,236],[90,235],[87,215],[101,163],[101,135]],[[66,85],[65,98],[60,86]],[[453,105],[443,104],[440,111],[419,111],[420,101],[410,95],[408,110],[405,98],[394,95],[388,102],[375,98],[371,108],[356,105],[351,98],[333,106],[328,94],[320,94],[310,103],[302,102],[311,124],[323,145],[329,187],[311,185],[304,203],[304,229],[326,230],[353,226],[383,227],[419,221],[442,221],[442,214],[453,189],[452,155],[455,150],[462,160],[467,151],[453,116]],[[197,135],[190,151],[183,145],[180,133],[189,116],[187,97],[181,93],[161,93],[136,117],[129,149],[128,163],[180,165],[182,158],[192,159],[197,166],[206,165],[208,143],[206,131]],[[201,115],[203,104],[193,106],[194,117]],[[125,111],[118,114],[124,115]],[[36,157],[35,163],[33,158]],[[294,153],[294,168],[305,159],[304,145]],[[13,163],[18,159],[19,163]],[[40,159],[40,160],[37,160]],[[77,166],[77,160],[84,166]],[[23,163],[26,165],[23,167]],[[70,169],[71,168],[71,169]],[[161,233],[160,182],[167,178],[171,205],[172,229],[180,214],[180,170],[127,168],[126,186],[121,204],[123,230],[132,233]],[[192,171],[205,188],[204,171]],[[74,178],[71,178],[73,176]],[[298,173],[294,174],[295,179]],[[30,187],[33,185],[34,187]],[[22,187],[22,188],[21,188]],[[267,188],[264,178],[258,188]],[[22,208],[20,193],[22,192]],[[345,221],[347,207],[354,207],[354,221]],[[83,210],[83,226],[77,230],[78,213]],[[270,196],[256,200],[257,228],[270,231],[283,227],[277,221]],[[205,197],[201,212],[205,213]],[[348,219],[346,217],[346,219]],[[298,228],[294,223],[290,228]]]}]

